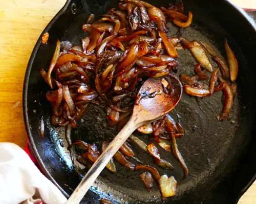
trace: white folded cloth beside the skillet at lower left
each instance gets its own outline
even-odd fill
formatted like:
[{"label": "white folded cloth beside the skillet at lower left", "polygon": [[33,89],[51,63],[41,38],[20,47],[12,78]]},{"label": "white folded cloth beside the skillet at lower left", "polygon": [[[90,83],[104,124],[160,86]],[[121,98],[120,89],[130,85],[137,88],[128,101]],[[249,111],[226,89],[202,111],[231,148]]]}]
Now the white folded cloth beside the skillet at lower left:
[{"label": "white folded cloth beside the skillet at lower left", "polygon": [[64,204],[67,199],[13,143],[0,143],[0,204]]}]

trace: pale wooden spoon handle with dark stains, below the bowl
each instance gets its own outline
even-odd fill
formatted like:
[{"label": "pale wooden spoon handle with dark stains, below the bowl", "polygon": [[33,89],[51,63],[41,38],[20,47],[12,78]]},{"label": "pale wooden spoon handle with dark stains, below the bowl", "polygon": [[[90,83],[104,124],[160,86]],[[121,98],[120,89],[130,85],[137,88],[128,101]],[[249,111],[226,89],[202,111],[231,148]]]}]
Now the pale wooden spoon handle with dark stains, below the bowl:
[{"label": "pale wooden spoon handle with dark stains, below the bowl", "polygon": [[65,204],[79,204],[83,196],[89,190],[90,186],[96,180],[101,171],[108,164],[109,160],[116,154],[119,148],[124,144],[128,137],[138,128],[139,125],[135,125],[132,118],[121,129],[117,136],[112,140],[105,151],[94,162],[93,166],[89,169],[86,175],[83,177],[80,184],[76,187],[74,192],[69,197]]}]

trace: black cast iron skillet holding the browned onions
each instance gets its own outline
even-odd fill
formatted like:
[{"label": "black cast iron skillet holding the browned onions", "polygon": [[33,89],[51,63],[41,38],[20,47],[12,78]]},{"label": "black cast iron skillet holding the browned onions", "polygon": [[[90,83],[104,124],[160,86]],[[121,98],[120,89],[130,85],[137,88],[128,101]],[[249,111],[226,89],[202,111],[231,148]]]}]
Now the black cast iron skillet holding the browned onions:
[{"label": "black cast iron skillet holding the browned onions", "polygon": [[[171,2],[171,1],[170,1]],[[40,38],[35,45],[27,66],[23,89],[23,113],[30,146],[42,170],[58,188],[69,196],[78,185],[83,168],[72,166],[67,153],[63,128],[50,125],[50,104],[45,99],[49,87],[39,75],[39,68],[47,69],[56,39],[80,44],[86,36],[81,29],[90,13],[95,16],[116,7],[118,0],[68,0],[65,6],[43,31],[49,32],[48,44]],[[166,6],[169,1],[149,1],[156,6]],[[131,172],[118,167],[118,173],[104,170],[94,188],[86,194],[83,203],[99,203],[100,197],[108,197],[117,203],[175,203],[175,204],[222,204],[237,203],[240,196],[256,178],[256,29],[244,13],[227,0],[184,0],[185,13],[191,10],[193,24],[185,29],[183,36],[212,44],[221,54],[223,39],[227,38],[239,62],[238,95],[227,121],[218,122],[221,111],[221,93],[203,99],[198,105],[194,98],[184,94],[172,111],[181,116],[185,136],[178,140],[180,151],[189,167],[190,175],[182,180],[182,169],[170,154],[161,152],[173,163],[175,169],[167,171],[178,181],[177,195],[162,201],[155,185],[149,193],[139,180],[141,172]],[[170,35],[175,34],[169,24]],[[179,70],[192,73],[196,61],[189,51],[179,51]],[[44,120],[45,138],[39,134],[40,121]],[[115,129],[108,128],[105,109],[91,106],[78,128],[72,130],[72,139],[83,139],[96,144],[106,137],[113,137]],[[147,136],[140,135],[146,142]],[[63,143],[63,146],[61,146]],[[147,164],[152,159],[135,148],[136,155]],[[134,161],[133,161],[134,162]],[[159,170],[160,173],[166,171]]]}]

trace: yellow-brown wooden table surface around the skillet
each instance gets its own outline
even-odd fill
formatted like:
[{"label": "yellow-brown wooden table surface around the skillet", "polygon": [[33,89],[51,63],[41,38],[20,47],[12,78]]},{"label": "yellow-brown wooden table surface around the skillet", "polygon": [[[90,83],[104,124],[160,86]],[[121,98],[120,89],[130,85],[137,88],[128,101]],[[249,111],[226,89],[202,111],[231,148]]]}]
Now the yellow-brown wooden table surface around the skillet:
[{"label": "yellow-brown wooden table surface around the skillet", "polygon": [[[255,0],[233,0],[256,8]],[[42,30],[65,0],[0,0],[0,141],[24,148],[22,88],[26,66]],[[239,204],[256,204],[256,182]]]}]

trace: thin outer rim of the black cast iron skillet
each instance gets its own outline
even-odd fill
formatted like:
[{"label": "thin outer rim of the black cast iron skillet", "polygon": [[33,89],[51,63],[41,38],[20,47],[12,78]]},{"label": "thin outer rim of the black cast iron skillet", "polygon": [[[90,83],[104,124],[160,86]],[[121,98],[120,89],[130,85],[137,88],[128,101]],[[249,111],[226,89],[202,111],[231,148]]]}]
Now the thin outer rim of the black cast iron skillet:
[{"label": "thin outer rim of the black cast iron skillet", "polygon": [[[52,20],[50,20],[50,22],[48,23],[48,25],[45,27],[45,29],[42,31],[41,35],[43,33],[45,33],[46,31],[49,30],[50,27],[53,26],[53,24],[56,22],[56,20],[63,15],[63,13],[67,10],[67,8],[69,7],[69,5],[71,4],[72,1],[75,0],[67,0],[66,3],[64,4],[64,6],[60,9],[60,11],[53,17]],[[235,8],[235,10],[240,13],[241,18],[244,18],[244,20],[246,20],[249,25],[251,26],[251,28],[255,31],[255,35],[256,35],[256,23],[253,22],[253,20],[249,17],[248,14],[246,14],[246,12],[244,10],[242,10],[240,7],[238,7],[237,5],[231,3],[229,0],[222,0],[224,2],[226,2],[227,4],[229,4],[230,7]],[[27,68],[26,68],[26,73],[25,73],[25,79],[23,82],[23,94],[22,94],[22,110],[23,110],[23,120],[24,120],[24,124],[25,124],[25,129],[26,129],[26,133],[27,133],[27,139],[29,141],[29,147],[30,149],[33,151],[33,155],[35,156],[38,164],[40,165],[42,171],[44,172],[45,176],[53,182],[54,185],[57,186],[57,188],[59,188],[59,190],[64,194],[65,197],[69,197],[69,195],[65,192],[65,190],[63,190],[63,188],[61,188],[61,186],[54,180],[54,178],[52,177],[52,175],[50,174],[50,172],[46,169],[46,166],[44,164],[44,162],[41,159],[41,156],[39,155],[39,152],[37,151],[37,148],[35,147],[35,141],[34,141],[34,137],[30,131],[30,125],[29,125],[29,114],[28,114],[28,107],[27,107],[27,96],[28,96],[28,86],[29,86],[29,79],[30,79],[30,72],[32,69],[32,65],[34,63],[34,59],[35,56],[37,54],[37,51],[39,49],[39,46],[41,45],[41,35],[39,36],[33,51],[31,53],[31,56],[29,58],[29,62],[27,64]],[[236,200],[236,204],[238,203],[238,201],[240,200],[241,196],[246,192],[246,190],[248,190],[248,188],[253,184],[253,182],[256,181],[256,172],[254,174],[254,176],[251,178],[251,180],[240,190],[240,192],[237,195],[237,199]]]}]

